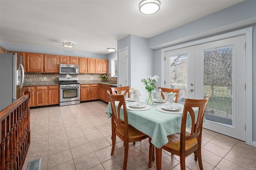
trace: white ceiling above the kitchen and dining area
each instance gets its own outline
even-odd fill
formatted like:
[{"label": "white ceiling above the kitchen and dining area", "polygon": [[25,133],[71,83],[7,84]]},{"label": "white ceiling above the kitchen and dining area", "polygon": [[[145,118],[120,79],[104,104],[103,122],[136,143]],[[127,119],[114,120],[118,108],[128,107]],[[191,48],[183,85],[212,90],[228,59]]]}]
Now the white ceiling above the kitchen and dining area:
[{"label": "white ceiling above the kitchen and dining area", "polygon": [[132,34],[151,38],[243,0],[160,0],[156,14],[140,0],[0,0],[0,42],[108,54]]}]

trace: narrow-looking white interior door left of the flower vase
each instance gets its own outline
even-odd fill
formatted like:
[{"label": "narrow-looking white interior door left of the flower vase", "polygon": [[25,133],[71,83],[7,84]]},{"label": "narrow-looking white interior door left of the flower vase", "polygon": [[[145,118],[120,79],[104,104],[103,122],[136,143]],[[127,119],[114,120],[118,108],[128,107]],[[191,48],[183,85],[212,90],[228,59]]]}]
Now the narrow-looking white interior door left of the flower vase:
[{"label": "narrow-looking white interior door left of the flower vase", "polygon": [[122,51],[119,51],[119,73],[118,73],[118,80],[119,80],[119,86],[127,86],[127,78],[128,78],[128,70],[127,70],[127,54],[128,49],[124,49]]}]

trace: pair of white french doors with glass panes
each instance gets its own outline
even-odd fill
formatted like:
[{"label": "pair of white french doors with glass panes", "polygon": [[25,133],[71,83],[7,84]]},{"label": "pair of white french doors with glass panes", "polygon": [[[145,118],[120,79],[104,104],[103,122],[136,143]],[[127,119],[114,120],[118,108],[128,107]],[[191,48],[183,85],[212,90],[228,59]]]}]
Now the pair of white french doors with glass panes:
[{"label": "pair of white french doors with glass panes", "polygon": [[245,141],[245,36],[165,52],[166,87],[183,98],[207,94],[204,128]]}]

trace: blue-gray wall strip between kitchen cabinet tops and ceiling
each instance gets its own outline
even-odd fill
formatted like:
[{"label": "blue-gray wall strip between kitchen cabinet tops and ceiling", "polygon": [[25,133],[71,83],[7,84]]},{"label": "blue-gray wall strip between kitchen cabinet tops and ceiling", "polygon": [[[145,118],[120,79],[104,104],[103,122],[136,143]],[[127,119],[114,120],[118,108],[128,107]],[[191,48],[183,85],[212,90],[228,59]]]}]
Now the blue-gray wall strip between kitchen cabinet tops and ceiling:
[{"label": "blue-gray wall strip between kitchen cabinet tops and ceiling", "polygon": [[74,57],[100,58],[100,59],[106,59],[107,57],[104,54],[84,53],[84,52],[70,51],[70,50],[64,50],[64,49],[61,50],[61,49],[53,49],[53,48],[45,48],[45,47],[17,45],[17,44],[10,44],[10,43],[0,43],[0,46],[4,47],[9,51],[22,51],[22,52],[30,52],[30,53],[67,55],[67,56],[74,56]]}]

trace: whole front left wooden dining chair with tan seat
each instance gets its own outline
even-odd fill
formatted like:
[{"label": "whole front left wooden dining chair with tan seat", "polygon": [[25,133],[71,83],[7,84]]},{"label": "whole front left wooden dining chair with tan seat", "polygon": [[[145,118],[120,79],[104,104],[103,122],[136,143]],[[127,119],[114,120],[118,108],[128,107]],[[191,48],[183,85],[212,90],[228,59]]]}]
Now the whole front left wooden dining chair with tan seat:
[{"label": "whole front left wooden dining chair with tan seat", "polygon": [[[127,161],[128,161],[128,147],[130,142],[136,142],[139,140],[143,140],[148,138],[148,136],[136,128],[132,127],[131,125],[128,124],[128,116],[127,116],[127,109],[126,109],[126,103],[125,103],[125,98],[124,95],[113,95],[110,94],[109,91],[108,95],[110,98],[110,104],[111,104],[111,109],[112,109],[112,118],[113,121],[112,127],[114,129],[112,130],[112,151],[111,155],[114,154],[114,149],[115,149],[115,144],[116,144],[116,135],[124,142],[124,166],[123,170],[126,170],[127,168]],[[117,105],[117,109],[116,109]],[[123,111],[121,111],[122,109]],[[123,119],[120,118],[120,116],[124,116]],[[148,167],[152,167],[152,144],[150,142],[149,146],[149,162],[148,162]]]}]

